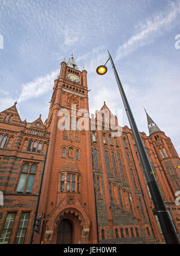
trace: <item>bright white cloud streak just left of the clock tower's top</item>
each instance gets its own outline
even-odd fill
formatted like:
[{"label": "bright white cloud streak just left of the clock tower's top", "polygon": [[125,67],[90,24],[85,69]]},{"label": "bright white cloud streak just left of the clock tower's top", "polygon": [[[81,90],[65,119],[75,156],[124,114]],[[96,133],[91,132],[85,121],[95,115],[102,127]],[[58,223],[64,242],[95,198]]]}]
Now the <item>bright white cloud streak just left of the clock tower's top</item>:
[{"label": "bright white cloud streak just left of the clock tower's top", "polygon": [[58,75],[59,70],[55,70],[50,74],[35,78],[32,82],[22,85],[22,92],[17,99],[17,102],[28,101],[32,98],[37,98],[44,93],[52,90],[53,81]]}]

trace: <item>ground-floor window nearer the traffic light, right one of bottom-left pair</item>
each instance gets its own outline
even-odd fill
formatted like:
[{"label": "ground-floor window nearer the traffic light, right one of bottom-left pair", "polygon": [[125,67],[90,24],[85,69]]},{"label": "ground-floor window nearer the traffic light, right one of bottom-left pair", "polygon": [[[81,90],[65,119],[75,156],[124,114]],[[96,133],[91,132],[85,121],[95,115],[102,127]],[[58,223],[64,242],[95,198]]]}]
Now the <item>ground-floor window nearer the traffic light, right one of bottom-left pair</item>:
[{"label": "ground-floor window nearer the traffic light, right one of bottom-left pair", "polygon": [[14,243],[21,244],[25,240],[26,229],[28,226],[29,213],[22,213],[20,216],[20,222],[17,229],[16,240]]}]

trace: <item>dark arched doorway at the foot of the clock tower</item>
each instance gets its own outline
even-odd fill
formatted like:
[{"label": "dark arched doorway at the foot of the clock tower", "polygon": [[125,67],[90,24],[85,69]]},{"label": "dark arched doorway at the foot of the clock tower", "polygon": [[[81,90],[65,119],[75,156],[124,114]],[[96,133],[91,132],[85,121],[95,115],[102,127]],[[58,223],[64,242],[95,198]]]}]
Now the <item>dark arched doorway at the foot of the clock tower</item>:
[{"label": "dark arched doorway at the foot of the clock tower", "polygon": [[57,242],[70,244],[73,240],[73,226],[68,219],[63,219],[58,226]]}]

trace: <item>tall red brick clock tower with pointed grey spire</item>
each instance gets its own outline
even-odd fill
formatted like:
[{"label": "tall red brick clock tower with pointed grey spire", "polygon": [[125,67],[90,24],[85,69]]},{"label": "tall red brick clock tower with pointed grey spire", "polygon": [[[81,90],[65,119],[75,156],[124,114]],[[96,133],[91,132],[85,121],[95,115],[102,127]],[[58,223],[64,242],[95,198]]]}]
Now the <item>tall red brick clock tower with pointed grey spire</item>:
[{"label": "tall red brick clock tower with pointed grey spire", "polygon": [[[52,136],[38,208],[38,216],[46,216],[43,243],[97,243],[91,135],[89,126],[78,129],[81,114],[77,116],[86,110],[89,122],[86,74],[72,54],[67,63],[62,61],[53,87],[45,122]],[[34,235],[35,243],[38,237]]]}]

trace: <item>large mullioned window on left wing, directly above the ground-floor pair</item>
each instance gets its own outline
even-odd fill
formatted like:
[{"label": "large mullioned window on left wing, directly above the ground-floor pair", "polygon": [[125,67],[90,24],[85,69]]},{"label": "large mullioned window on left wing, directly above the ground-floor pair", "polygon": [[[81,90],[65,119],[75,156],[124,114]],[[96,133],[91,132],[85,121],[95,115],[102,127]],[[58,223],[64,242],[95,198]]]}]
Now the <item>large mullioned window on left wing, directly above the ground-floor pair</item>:
[{"label": "large mullioned window on left wing, directly above the ground-floor pair", "polygon": [[32,192],[34,185],[34,178],[37,171],[36,164],[24,163],[20,173],[19,182],[17,184],[16,192]]}]

